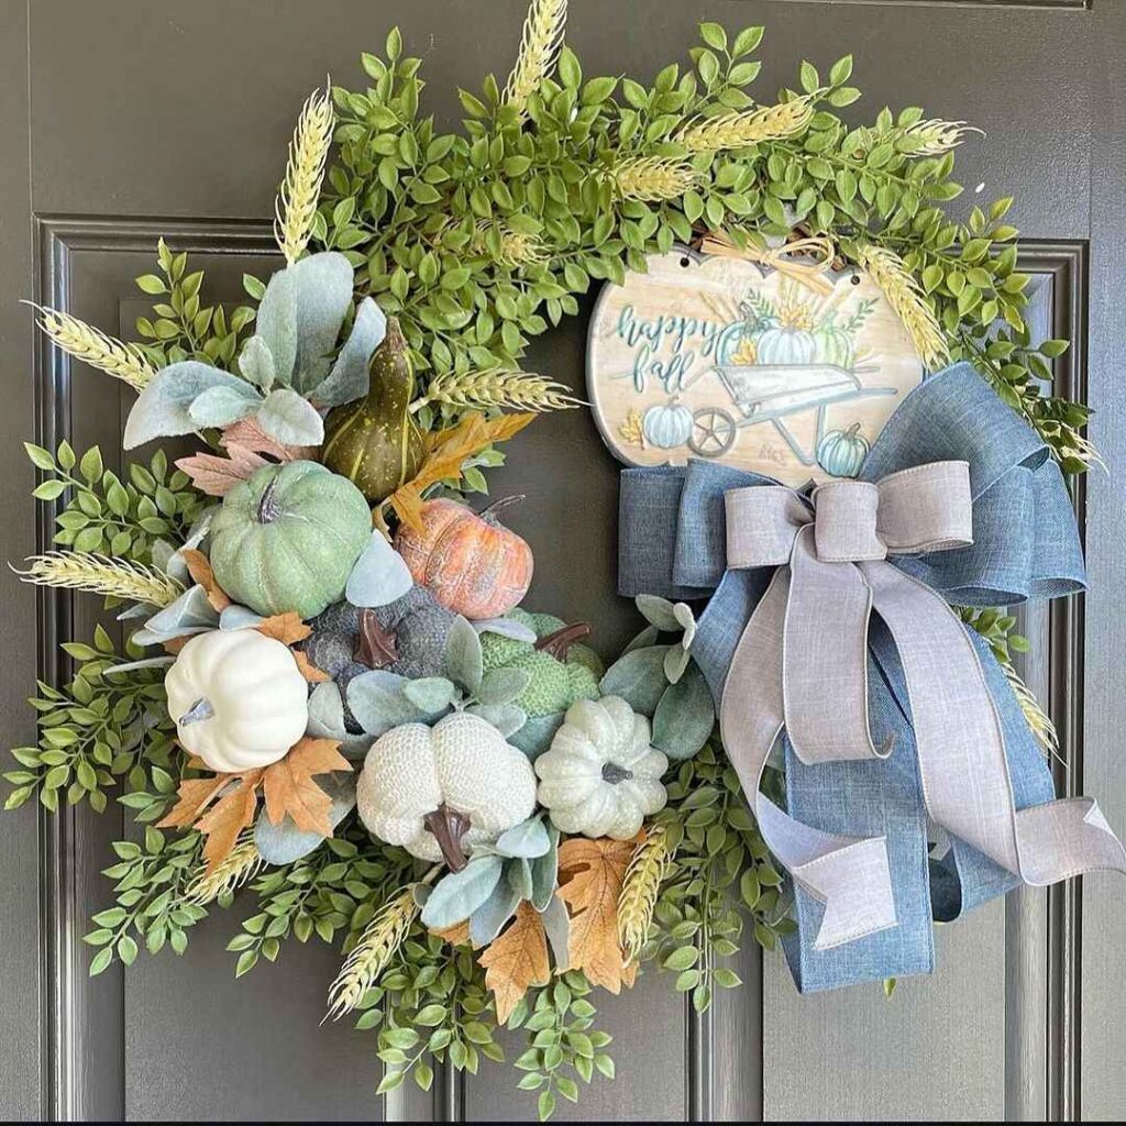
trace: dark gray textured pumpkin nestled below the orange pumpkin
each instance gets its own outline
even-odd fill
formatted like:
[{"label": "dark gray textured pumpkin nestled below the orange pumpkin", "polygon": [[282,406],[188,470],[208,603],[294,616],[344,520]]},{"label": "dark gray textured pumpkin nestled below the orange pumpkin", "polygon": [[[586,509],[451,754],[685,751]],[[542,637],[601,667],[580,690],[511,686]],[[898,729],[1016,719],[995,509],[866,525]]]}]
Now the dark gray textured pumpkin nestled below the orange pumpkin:
[{"label": "dark gray textured pumpkin nestled below the orange pumpkin", "polygon": [[305,641],[309,660],[337,682],[345,697],[345,725],[352,734],[363,729],[348,709],[347,690],[352,677],[369,669],[385,669],[414,680],[441,674],[446,635],[454,615],[435,601],[426,587],[412,587],[386,606],[363,611],[374,616],[383,633],[379,659],[367,663],[360,646],[360,609],[350,602],[334,602],[310,622]]}]

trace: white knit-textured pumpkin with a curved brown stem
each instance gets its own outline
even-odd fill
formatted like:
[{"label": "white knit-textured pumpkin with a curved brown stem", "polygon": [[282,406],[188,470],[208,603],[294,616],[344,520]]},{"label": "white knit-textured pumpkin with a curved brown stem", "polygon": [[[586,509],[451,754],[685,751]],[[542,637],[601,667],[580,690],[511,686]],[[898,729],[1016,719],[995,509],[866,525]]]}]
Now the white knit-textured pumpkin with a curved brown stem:
[{"label": "white knit-textured pumpkin with a curved brown stem", "polygon": [[379,840],[458,872],[467,850],[531,815],[536,775],[491,723],[455,712],[434,727],[406,723],[381,735],[364,760],[356,807]]}]

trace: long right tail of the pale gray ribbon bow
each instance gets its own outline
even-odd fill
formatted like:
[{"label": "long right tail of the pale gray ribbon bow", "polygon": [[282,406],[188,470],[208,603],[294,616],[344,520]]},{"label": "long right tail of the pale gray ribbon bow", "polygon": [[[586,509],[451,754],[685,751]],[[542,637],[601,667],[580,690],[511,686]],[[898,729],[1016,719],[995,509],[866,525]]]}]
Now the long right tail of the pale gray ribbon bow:
[{"label": "long right tail of the pale gray ribbon bow", "polygon": [[1016,808],[997,704],[945,599],[887,563],[860,566],[903,667],[932,820],[1027,884],[1126,873],[1126,848],[1090,798]]}]

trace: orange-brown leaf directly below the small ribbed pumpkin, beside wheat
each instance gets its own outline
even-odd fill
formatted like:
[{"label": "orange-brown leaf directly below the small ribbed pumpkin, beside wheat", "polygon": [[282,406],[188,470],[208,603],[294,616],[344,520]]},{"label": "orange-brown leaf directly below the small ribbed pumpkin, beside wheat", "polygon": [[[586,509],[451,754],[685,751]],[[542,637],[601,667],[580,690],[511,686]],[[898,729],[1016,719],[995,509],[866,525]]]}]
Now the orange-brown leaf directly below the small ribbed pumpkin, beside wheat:
[{"label": "orange-brown leaf directly below the small ribbed pumpkin, beside wheat", "polygon": [[642,834],[628,841],[571,837],[558,850],[557,894],[570,909],[571,968],[611,993],[632,985],[636,972],[622,953],[618,899],[634,847],[643,839]]}]

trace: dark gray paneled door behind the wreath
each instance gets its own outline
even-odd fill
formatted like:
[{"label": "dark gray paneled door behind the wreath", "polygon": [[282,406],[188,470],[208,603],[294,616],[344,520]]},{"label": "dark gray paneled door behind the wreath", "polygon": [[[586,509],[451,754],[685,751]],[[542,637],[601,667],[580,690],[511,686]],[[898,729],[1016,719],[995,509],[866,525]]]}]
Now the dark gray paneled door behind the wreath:
[{"label": "dark gray paneled door behind the wreath", "polygon": [[[163,233],[235,300],[271,253],[266,218],[287,135],[325,71],[363,82],[358,53],[401,25],[428,96],[458,116],[455,88],[507,72],[525,0],[0,0],[0,542],[30,554],[46,526],[27,493],[20,439],[101,444],[118,458],[117,384],[33,340],[35,298],[109,329],[137,313],[131,279]],[[588,73],[651,75],[682,59],[695,24],[763,23],[759,89],[803,57],[856,55],[865,97],[965,118],[986,131],[959,157],[966,199],[1017,195],[1022,268],[1037,275],[1040,331],[1078,346],[1060,387],[1097,413],[1109,473],[1076,490],[1092,592],[1027,623],[1026,669],[1063,736],[1063,789],[1097,794],[1126,825],[1126,394],[1119,349],[1126,261],[1126,3],[1120,0],[572,0],[568,38]],[[762,95],[767,97],[766,93]],[[958,202],[955,207],[968,207]],[[587,306],[589,309],[589,306]],[[536,342],[531,364],[581,385],[583,318]],[[518,440],[507,482],[529,494],[535,601],[600,623],[610,650],[631,627],[613,558],[616,470],[581,413]],[[516,489],[513,488],[513,491]],[[41,522],[37,522],[37,519]],[[597,582],[569,566],[577,551]],[[65,669],[56,643],[84,636],[86,602],[39,597],[3,572],[0,730],[33,738],[33,673]],[[0,817],[0,1114],[32,1119],[391,1119],[527,1117],[516,1073],[439,1076],[430,1096],[374,1098],[374,1045],[319,1027],[337,956],[287,947],[239,983],[225,953],[236,902],[191,935],[182,958],[142,957],[88,980],[86,920],[108,902],[99,869],[123,823],[86,807]],[[748,949],[747,986],[696,1019],[646,974],[605,998],[618,1080],[570,1117],[715,1119],[1114,1119],[1126,1114],[1126,884],[1090,877],[995,903],[939,936],[929,980],[799,999],[775,956]]]}]

